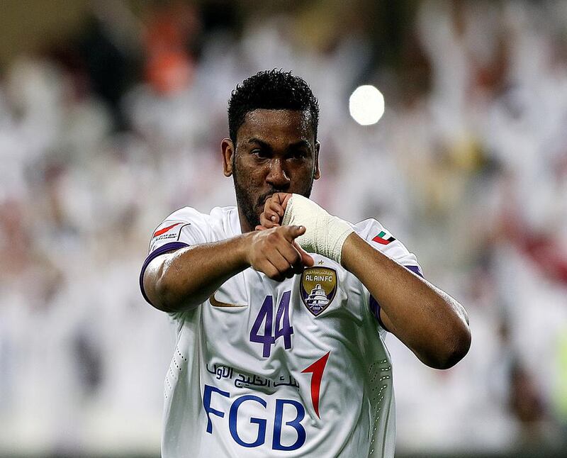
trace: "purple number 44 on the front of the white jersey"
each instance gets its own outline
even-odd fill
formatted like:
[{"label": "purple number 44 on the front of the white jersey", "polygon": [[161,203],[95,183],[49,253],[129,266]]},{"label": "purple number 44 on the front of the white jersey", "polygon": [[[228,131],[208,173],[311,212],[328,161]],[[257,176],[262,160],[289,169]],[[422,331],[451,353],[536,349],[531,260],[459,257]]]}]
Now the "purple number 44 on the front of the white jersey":
[{"label": "purple number 44 on the front of the white jersey", "polygon": [[[274,321],[274,301],[271,296],[266,296],[262,307],[258,312],[256,320],[250,330],[250,342],[257,342],[264,345],[262,357],[267,358],[271,352],[271,345],[276,343],[276,339],[283,337],[283,347],[286,350],[291,349],[291,335],[293,334],[293,326],[289,323],[289,298],[291,291],[286,291],[281,296],[281,301],[276,311],[276,323],[274,334],[272,335],[272,321]],[[262,328],[264,322],[264,334],[260,335],[258,331]]]}]

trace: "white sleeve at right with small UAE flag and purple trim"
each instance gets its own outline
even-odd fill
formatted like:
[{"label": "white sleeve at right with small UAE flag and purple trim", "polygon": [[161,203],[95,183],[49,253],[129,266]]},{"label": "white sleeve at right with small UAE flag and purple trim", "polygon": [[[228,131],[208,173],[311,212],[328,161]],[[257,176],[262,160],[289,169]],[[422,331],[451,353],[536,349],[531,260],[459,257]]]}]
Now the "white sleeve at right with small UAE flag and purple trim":
[{"label": "white sleeve at right with small UAE flag and purple trim", "polygon": [[[378,223],[377,220],[364,220],[361,223],[354,225],[354,231],[360,238],[366,240],[366,242],[368,242],[375,250],[382,252],[395,262],[402,264],[419,277],[423,277],[422,268],[417,262],[417,257],[410,252],[408,248],[400,242],[400,240],[396,239],[388,229]],[[371,296],[370,292],[366,288],[364,288],[364,298],[367,300],[367,305],[371,314],[374,315],[376,320],[378,320],[378,324],[381,328],[386,330],[386,327],[380,319],[380,304]]]}]

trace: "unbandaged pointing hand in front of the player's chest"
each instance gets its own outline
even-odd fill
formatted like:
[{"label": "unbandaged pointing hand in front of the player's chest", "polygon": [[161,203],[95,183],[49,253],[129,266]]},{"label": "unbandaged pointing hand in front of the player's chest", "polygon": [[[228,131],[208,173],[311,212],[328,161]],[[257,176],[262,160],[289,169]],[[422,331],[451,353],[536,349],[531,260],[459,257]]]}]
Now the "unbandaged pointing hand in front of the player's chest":
[{"label": "unbandaged pointing hand in front of the player's chest", "polygon": [[249,233],[247,262],[269,278],[282,281],[312,267],[313,257],[294,242],[305,233],[303,226],[290,225]]}]

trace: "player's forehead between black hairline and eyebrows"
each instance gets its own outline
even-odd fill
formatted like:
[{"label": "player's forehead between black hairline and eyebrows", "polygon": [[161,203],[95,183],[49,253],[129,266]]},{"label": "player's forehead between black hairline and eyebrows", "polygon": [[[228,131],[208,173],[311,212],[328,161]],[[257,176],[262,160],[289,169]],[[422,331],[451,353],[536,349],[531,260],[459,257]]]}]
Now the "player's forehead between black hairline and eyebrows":
[{"label": "player's forehead between black hairline and eyebrows", "polygon": [[238,142],[258,138],[266,143],[295,143],[307,140],[315,143],[310,113],[299,110],[269,110],[259,108],[246,113],[238,129]]}]

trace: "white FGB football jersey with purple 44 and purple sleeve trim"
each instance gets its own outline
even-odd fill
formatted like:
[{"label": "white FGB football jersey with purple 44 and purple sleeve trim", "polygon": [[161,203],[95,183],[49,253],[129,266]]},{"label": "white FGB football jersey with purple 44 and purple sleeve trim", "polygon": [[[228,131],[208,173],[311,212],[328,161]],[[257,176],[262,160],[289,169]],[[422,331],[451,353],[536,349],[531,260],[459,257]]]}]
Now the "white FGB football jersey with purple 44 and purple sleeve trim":
[{"label": "white FGB football jersey with purple 44 and purple sleeve trim", "polygon": [[[415,256],[376,220],[354,229],[421,275]],[[142,293],[155,257],[241,233],[235,207],[172,213],[152,236]],[[172,315],[162,457],[393,457],[392,367],[379,306],[339,264],[313,259],[284,281],[245,269],[201,306]]]}]

